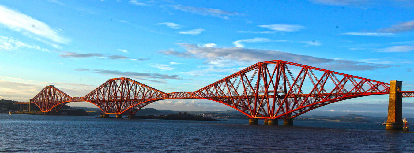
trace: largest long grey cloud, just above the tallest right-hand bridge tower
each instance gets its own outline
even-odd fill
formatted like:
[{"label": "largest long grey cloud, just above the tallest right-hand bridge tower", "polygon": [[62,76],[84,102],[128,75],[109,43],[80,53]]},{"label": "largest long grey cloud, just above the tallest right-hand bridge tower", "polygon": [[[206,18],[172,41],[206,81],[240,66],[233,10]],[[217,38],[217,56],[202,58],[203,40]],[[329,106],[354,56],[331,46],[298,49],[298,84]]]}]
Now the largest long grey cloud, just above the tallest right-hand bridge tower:
[{"label": "largest long grey cloud, just above the tallest right-hand bridge tower", "polygon": [[200,47],[190,43],[178,43],[184,47],[185,52],[175,50],[165,50],[159,53],[164,55],[173,55],[181,58],[199,58],[206,59],[209,64],[228,66],[230,63],[235,65],[251,65],[255,62],[269,60],[286,60],[297,62],[304,65],[310,65],[330,70],[344,71],[366,71],[391,67],[390,65],[381,65],[374,63],[366,63],[354,60],[335,60],[308,55],[297,55],[292,53],[281,52],[277,50],[260,50],[250,48],[212,48]]}]

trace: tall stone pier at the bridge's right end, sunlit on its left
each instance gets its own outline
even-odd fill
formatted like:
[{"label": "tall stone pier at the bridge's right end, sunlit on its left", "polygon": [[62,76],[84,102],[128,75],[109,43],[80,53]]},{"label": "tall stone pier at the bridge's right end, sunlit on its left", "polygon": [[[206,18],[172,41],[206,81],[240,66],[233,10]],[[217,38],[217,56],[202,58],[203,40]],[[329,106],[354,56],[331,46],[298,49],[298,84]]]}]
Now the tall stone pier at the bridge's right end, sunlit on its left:
[{"label": "tall stone pier at the bridge's right end, sunlit on its left", "polygon": [[402,130],[402,81],[390,81],[390,98],[388,99],[388,118],[386,130]]}]

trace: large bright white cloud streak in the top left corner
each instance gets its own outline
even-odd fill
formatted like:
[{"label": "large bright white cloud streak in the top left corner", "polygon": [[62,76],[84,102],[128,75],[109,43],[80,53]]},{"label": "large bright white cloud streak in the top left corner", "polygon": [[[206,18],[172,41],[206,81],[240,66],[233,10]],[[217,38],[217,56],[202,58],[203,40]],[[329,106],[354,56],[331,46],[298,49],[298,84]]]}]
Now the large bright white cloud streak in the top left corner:
[{"label": "large bright white cloud streak in the top left corner", "polygon": [[53,30],[46,23],[33,19],[26,14],[10,10],[3,5],[0,5],[0,24],[36,40],[40,39],[38,37],[42,37],[56,43],[69,43],[67,38],[60,36],[57,30]]}]

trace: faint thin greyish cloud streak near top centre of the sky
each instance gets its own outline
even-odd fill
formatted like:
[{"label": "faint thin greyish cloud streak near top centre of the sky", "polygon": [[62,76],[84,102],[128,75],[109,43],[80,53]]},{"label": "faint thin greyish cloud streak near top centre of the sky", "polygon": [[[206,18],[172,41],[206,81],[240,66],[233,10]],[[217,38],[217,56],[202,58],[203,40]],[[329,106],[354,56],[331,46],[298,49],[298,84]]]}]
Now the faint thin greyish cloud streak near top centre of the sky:
[{"label": "faint thin greyish cloud streak near top centre of the sky", "polygon": [[200,14],[204,16],[219,17],[222,19],[229,19],[228,16],[242,15],[237,12],[227,12],[227,11],[222,11],[218,9],[199,8],[199,7],[191,7],[191,6],[184,6],[184,5],[171,5],[171,7],[173,7],[173,9],[175,10],[196,13],[196,14]]}]

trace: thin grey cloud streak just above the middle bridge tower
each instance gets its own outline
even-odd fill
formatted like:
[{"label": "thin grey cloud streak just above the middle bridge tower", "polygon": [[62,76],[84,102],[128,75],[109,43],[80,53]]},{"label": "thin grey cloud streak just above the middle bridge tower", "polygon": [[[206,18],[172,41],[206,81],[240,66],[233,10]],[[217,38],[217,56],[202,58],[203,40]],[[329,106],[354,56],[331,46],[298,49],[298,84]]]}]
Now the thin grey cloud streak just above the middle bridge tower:
[{"label": "thin grey cloud streak just above the middle bridge tower", "polygon": [[125,72],[118,70],[106,70],[106,69],[75,69],[75,71],[86,71],[92,73],[98,73],[103,75],[116,75],[120,77],[131,77],[141,80],[147,80],[157,83],[166,83],[165,79],[183,79],[178,75],[168,75],[168,74],[159,74],[159,73],[140,73],[140,72]]}]

